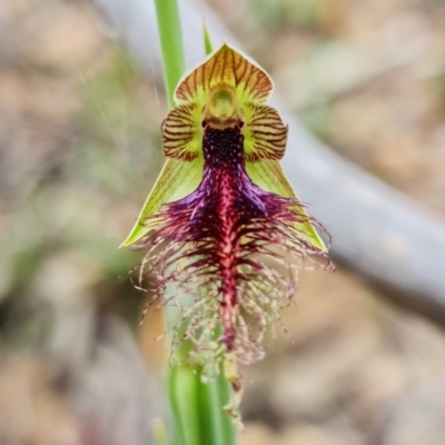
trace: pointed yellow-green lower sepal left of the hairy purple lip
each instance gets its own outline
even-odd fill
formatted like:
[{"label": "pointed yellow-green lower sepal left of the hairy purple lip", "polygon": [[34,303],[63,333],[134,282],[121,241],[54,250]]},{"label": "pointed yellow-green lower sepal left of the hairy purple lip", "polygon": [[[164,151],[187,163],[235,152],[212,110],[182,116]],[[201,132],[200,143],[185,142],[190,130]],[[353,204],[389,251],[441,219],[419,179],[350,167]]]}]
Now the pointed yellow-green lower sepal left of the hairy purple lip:
[{"label": "pointed yellow-green lower sepal left of the hairy purple lip", "polygon": [[147,224],[147,218],[155,215],[165,202],[181,199],[191,194],[202,179],[202,158],[191,162],[168,159],[155,187],[144,204],[142,211],[127,239],[120,245],[129,246],[157,227],[156,219]]}]

